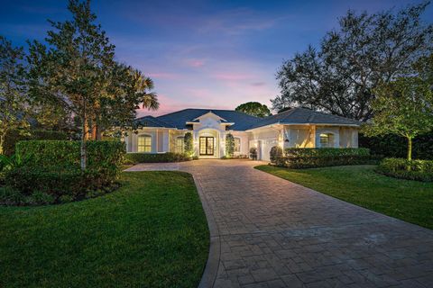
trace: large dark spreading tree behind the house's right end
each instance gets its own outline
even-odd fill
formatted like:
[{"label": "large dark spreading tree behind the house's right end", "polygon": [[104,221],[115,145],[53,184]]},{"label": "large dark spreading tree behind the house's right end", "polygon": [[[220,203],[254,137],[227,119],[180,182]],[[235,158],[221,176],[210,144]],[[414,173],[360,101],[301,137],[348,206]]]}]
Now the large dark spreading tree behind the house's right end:
[{"label": "large dark spreading tree behind the house's right end", "polygon": [[433,48],[433,25],[420,15],[428,2],[393,13],[348,11],[337,31],[318,49],[309,47],[285,61],[277,73],[281,94],[272,109],[304,105],[313,110],[367,121],[374,88],[404,74]]}]

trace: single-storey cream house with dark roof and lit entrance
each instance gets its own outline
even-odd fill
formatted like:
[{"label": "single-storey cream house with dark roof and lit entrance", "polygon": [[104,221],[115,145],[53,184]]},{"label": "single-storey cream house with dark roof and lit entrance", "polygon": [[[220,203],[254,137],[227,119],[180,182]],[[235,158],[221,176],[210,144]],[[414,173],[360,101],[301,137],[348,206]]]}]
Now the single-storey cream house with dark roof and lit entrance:
[{"label": "single-storey cream house with dark roof and lit entrance", "polygon": [[292,108],[266,118],[230,110],[185,109],[159,117],[136,119],[142,126],[124,138],[128,152],[183,152],[185,133],[193,135],[194,155],[226,155],[226,134],[235,137],[235,156],[257,148],[269,160],[273,146],[281,148],[357,148],[360,123],[344,117]]}]

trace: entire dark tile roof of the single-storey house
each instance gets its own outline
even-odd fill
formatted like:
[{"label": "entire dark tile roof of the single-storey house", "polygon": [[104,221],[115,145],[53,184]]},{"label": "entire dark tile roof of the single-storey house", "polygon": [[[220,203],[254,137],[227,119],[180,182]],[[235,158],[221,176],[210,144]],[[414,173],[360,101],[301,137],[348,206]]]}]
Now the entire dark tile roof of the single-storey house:
[{"label": "entire dark tile roof of the single-storey house", "polygon": [[144,116],[136,119],[139,123],[148,127],[165,127],[186,129],[187,121],[191,122],[199,116],[213,112],[217,116],[228,122],[235,124],[230,126],[232,130],[250,130],[271,124],[332,124],[332,125],[360,125],[359,121],[351,120],[345,117],[316,112],[306,108],[292,108],[288,111],[281,112],[266,118],[258,118],[244,112],[233,110],[214,110],[214,109],[184,109],[178,112],[158,117]]}]

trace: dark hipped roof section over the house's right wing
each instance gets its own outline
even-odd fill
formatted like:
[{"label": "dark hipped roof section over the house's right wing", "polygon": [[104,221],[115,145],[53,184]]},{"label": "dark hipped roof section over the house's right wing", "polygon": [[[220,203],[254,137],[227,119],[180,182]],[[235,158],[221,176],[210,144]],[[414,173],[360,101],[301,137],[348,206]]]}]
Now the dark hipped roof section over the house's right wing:
[{"label": "dark hipped roof section over the house's right wing", "polygon": [[292,108],[263,119],[259,123],[252,125],[249,129],[259,128],[272,124],[329,124],[329,125],[349,125],[359,126],[361,123],[345,117],[317,112],[306,108]]}]

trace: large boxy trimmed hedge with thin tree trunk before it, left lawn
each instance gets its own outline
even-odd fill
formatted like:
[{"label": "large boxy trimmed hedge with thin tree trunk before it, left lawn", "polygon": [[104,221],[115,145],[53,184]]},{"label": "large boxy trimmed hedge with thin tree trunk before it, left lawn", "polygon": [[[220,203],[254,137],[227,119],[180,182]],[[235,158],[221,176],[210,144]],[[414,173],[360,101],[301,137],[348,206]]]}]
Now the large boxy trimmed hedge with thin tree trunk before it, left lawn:
[{"label": "large boxy trimmed hedge with thin tree trunk before it, left lawn", "polygon": [[16,155],[30,158],[5,174],[5,184],[23,195],[41,192],[78,200],[89,190],[113,186],[122,172],[124,154],[124,142],[88,141],[87,167],[81,171],[79,141],[18,142]]}]

